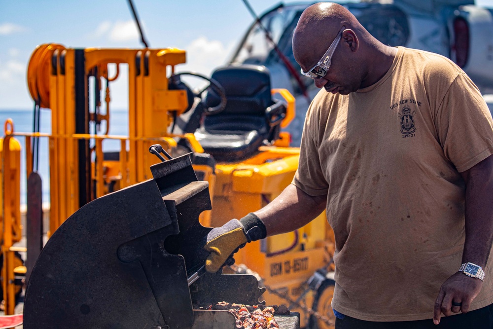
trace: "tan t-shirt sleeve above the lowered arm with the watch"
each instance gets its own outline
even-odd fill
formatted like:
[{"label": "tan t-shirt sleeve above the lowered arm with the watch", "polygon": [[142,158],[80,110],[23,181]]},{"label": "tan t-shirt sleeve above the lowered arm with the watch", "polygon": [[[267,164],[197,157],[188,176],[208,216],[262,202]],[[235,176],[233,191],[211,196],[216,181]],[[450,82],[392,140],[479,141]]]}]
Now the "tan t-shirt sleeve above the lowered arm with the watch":
[{"label": "tan t-shirt sleeve above the lowered arm with the watch", "polygon": [[459,73],[441,102],[435,121],[445,156],[458,172],[493,153],[493,121],[478,88]]}]

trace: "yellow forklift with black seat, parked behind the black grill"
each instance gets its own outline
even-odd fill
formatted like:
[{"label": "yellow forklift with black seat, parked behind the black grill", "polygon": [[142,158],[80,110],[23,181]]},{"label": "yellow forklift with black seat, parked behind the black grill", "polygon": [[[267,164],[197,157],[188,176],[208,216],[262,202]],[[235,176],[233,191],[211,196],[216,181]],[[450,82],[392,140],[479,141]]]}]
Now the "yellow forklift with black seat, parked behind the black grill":
[{"label": "yellow forklift with black seat, parked behind the black grill", "polygon": [[[5,314],[14,313],[15,275],[25,272],[14,263],[20,234],[14,200],[19,198],[19,181],[9,179],[20,174],[12,170],[20,161],[18,147],[12,146],[15,139],[25,139],[28,178],[33,173],[32,146],[39,138],[49,141],[48,236],[91,200],[151,179],[149,167],[159,162],[148,151],[151,145],[161,145],[170,157],[192,152],[196,176],[209,183],[211,194],[212,209],[200,217],[204,226],[218,226],[258,210],[291,182],[299,148],[289,147],[289,134],[281,132],[295,115],[289,92],[271,90],[265,67],[243,65],[220,68],[205,77],[210,86],[201,97],[205,90],[194,93],[181,82],[185,73],[177,73],[176,66],[182,63],[185,51],[175,48],[73,49],[43,44],[35,49],[28,86],[36,105],[51,109],[51,134],[16,132],[14,123],[6,123],[1,150]],[[108,65],[116,66],[114,76],[109,76]],[[128,136],[90,134],[93,125],[103,121],[110,125],[110,86],[123,69],[128,70]],[[89,90],[90,78],[94,90]],[[103,101],[97,97],[95,109],[89,106],[91,93],[105,94]],[[273,95],[281,95],[283,101]],[[102,103],[105,114],[99,112]],[[176,133],[173,128],[180,116],[187,123]],[[120,145],[112,158],[103,149],[108,140]],[[33,200],[28,198],[28,208],[29,202]],[[285,304],[300,312],[301,327],[332,328],[333,251],[333,233],[321,214],[299,230],[248,244],[235,255],[238,265],[224,272],[255,273],[267,288],[262,295],[266,304]]]}]

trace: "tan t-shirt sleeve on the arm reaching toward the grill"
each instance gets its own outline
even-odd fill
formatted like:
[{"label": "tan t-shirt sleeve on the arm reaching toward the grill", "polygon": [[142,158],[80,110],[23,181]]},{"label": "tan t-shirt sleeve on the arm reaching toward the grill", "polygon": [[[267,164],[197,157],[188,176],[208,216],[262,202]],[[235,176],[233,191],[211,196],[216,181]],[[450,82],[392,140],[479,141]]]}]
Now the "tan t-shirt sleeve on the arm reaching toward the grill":
[{"label": "tan t-shirt sleeve on the arm reaching toward the grill", "polygon": [[307,111],[301,136],[300,160],[292,184],[311,196],[326,195],[329,184],[325,180],[318,156],[317,98]]}]

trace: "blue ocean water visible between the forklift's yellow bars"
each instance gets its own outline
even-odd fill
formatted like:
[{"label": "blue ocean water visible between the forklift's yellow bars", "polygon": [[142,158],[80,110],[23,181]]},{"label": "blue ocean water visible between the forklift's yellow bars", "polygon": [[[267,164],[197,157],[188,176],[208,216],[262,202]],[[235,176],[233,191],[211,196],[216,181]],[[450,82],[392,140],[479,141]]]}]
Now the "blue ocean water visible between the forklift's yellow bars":
[{"label": "blue ocean water visible between the forklift's yellow bars", "polygon": [[[11,118],[14,122],[14,132],[31,133],[33,132],[33,109],[9,110],[0,109],[0,129],[1,137],[4,136],[4,122]],[[110,110],[109,135],[128,136],[128,111],[127,110]],[[101,125],[101,131],[106,129],[105,124]],[[40,114],[40,132],[51,133],[51,110],[41,109]],[[94,127],[91,133],[94,134]],[[24,137],[17,137],[21,144],[21,205],[26,204],[26,141]],[[103,143],[104,151],[118,151],[120,149],[119,141],[105,141]],[[39,159],[38,173],[41,176],[43,203],[50,202],[50,176],[48,162],[48,139],[39,139]]]}]

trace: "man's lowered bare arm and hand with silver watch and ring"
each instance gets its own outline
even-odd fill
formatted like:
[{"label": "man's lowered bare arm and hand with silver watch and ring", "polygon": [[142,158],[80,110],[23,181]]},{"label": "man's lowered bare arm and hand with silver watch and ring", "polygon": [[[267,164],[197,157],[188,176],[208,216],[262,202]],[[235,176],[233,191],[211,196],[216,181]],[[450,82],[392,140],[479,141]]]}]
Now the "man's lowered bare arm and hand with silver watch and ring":
[{"label": "man's lowered bare arm and hand with silver watch and ring", "polygon": [[[462,173],[465,190],[465,243],[462,263],[486,267],[493,242],[493,155]],[[487,278],[492,280],[492,278]],[[457,272],[447,279],[435,301],[433,322],[440,322],[440,313],[466,313],[478,295],[483,281]],[[461,303],[454,306],[454,303]]]}]

